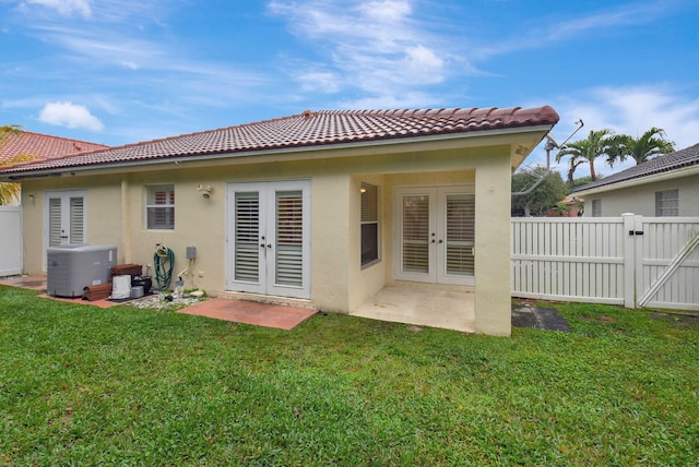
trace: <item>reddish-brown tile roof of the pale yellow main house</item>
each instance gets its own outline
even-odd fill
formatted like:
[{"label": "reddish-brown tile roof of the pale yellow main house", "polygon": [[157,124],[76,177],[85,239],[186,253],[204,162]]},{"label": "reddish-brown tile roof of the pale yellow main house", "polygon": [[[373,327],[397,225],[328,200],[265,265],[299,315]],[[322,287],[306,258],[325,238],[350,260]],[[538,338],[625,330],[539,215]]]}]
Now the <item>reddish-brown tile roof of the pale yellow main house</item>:
[{"label": "reddish-brown tile roof of the pale yellow main house", "polygon": [[553,125],[557,122],[558,113],[548,106],[526,109],[306,110],[289,117],[15,166],[0,170],[0,173],[438,136]]}]

